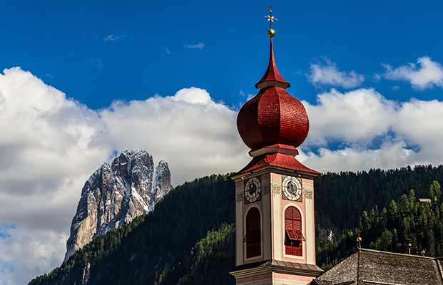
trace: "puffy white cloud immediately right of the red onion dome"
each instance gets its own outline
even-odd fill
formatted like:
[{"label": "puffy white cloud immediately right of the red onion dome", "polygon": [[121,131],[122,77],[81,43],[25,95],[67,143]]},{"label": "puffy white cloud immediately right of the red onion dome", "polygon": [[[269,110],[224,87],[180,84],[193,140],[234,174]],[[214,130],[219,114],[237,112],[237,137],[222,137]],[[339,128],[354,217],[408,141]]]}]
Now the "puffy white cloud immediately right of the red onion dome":
[{"label": "puffy white cloud immediately right of the red onion dome", "polygon": [[307,145],[327,145],[330,141],[359,142],[366,145],[389,130],[396,104],[373,89],[340,93],[332,89],[317,97],[317,104],[303,102],[310,118]]}]

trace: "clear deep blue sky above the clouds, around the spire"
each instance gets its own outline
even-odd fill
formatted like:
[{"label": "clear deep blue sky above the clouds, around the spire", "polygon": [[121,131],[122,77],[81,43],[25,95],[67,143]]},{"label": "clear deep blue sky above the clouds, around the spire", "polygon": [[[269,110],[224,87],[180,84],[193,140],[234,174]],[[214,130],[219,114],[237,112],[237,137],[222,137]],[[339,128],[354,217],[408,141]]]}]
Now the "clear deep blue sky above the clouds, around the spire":
[{"label": "clear deep blue sky above the clouds, around the spire", "polygon": [[[267,61],[268,1],[3,1],[0,66],[21,66],[90,108],[115,99],[208,90],[243,101]],[[315,101],[306,80],[323,57],[365,75],[387,98],[434,98],[407,83],[372,79],[419,56],[442,62],[442,1],[275,1],[275,53],[290,92]],[[184,46],[203,43],[204,47]],[[402,92],[391,90],[399,86]],[[321,88],[320,88],[321,90]],[[386,91],[386,92],[384,92]],[[389,91],[389,92],[388,92]]]}]

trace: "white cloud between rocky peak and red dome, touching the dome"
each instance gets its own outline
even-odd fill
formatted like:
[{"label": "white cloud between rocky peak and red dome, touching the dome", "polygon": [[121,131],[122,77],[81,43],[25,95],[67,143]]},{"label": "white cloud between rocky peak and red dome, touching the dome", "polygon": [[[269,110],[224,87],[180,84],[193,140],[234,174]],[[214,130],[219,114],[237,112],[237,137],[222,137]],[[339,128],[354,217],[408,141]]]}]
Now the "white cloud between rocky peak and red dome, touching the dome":
[{"label": "white cloud between rocky peak and red dome, touching the dome", "polygon": [[106,125],[103,144],[148,150],[155,159],[169,162],[175,183],[238,170],[248,160],[236,132],[236,112],[199,88],[116,102],[103,110],[101,118]]}]

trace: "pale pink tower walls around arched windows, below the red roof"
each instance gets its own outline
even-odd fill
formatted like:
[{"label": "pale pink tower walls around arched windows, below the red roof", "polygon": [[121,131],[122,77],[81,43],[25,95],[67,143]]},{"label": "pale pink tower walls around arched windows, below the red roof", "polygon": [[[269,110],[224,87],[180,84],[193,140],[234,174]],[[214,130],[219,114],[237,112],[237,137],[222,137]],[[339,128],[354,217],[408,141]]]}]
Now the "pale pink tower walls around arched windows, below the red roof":
[{"label": "pale pink tower walls around arched windows, below the red roof", "polygon": [[[294,173],[292,172],[292,175]],[[262,199],[251,204],[244,203],[244,184],[250,177],[235,182],[236,206],[236,258],[237,266],[257,261],[276,259],[280,261],[315,264],[315,220],[314,220],[314,185],[313,180],[300,178],[302,182],[302,202],[283,199],[282,177],[276,173],[255,175],[260,177],[262,185]],[[252,177],[252,176],[251,176]],[[302,257],[285,254],[285,227],[284,213],[289,206],[297,207],[302,214],[302,234],[306,241],[303,242]],[[253,259],[245,258],[245,217],[250,207],[258,207],[261,215],[262,254]],[[277,276],[277,275],[276,275]],[[281,276],[280,276],[281,277]],[[293,277],[293,276],[292,276]],[[290,279],[292,279],[290,277]],[[268,277],[267,277],[268,278]],[[287,277],[289,278],[289,277]],[[295,278],[295,277],[294,277]],[[301,276],[300,276],[301,278]],[[305,278],[302,278],[305,282]],[[297,279],[298,280],[298,279]],[[312,278],[310,278],[312,280]],[[307,283],[297,283],[307,284]]]}]

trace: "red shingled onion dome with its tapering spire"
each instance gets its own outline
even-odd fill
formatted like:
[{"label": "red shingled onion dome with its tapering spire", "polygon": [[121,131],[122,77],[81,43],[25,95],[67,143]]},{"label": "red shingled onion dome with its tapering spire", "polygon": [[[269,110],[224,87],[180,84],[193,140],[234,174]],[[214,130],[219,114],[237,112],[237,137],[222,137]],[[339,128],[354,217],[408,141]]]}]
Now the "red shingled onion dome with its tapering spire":
[{"label": "red shingled onion dome with its tapering spire", "polygon": [[286,91],[290,83],[277,70],[272,38],[268,69],[255,86],[259,93],[243,105],[237,117],[243,142],[252,152],[272,145],[301,145],[309,132],[309,120],[300,100]]}]

